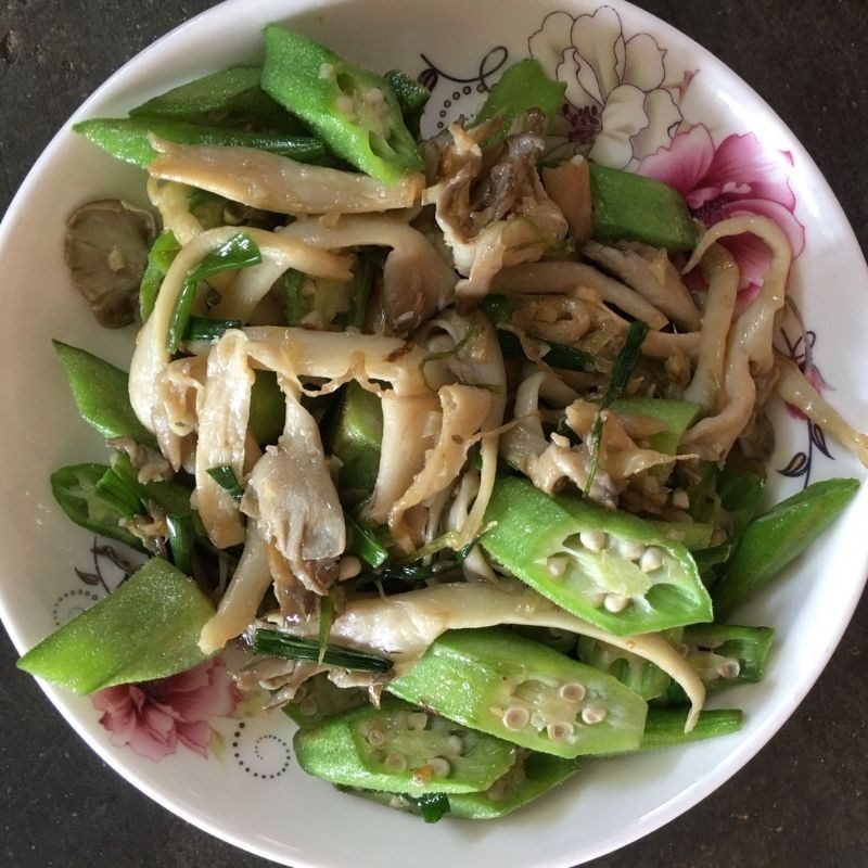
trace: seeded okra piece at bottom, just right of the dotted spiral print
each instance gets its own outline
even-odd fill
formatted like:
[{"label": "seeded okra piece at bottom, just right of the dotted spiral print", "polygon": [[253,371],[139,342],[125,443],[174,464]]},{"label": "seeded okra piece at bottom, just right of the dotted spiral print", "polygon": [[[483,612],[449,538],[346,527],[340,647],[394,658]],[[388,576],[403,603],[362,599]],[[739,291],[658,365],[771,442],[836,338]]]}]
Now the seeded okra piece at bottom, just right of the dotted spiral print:
[{"label": "seeded okra piece at bottom, just right of the dotted spiral print", "polygon": [[485,790],[515,763],[515,746],[384,697],[295,733],[295,757],[332,783],[390,793]]}]

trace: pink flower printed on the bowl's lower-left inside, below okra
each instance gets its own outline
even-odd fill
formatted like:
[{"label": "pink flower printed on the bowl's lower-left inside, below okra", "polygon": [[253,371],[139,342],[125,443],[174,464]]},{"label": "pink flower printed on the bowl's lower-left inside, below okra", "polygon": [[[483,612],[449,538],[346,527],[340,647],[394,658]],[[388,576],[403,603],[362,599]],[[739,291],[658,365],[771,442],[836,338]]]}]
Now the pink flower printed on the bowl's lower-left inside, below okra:
[{"label": "pink flower printed on the bowl's lower-left inside, below okra", "polygon": [[179,743],[207,757],[214,731],[208,722],[232,714],[241,694],[215,659],[170,678],[107,687],[91,699],[113,744],[157,761],[176,753]]}]

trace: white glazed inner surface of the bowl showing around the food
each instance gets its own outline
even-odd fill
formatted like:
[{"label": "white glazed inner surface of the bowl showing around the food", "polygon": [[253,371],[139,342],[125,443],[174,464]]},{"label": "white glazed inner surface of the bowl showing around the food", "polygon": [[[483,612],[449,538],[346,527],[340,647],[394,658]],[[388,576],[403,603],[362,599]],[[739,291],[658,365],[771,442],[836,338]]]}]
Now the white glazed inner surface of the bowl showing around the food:
[{"label": "white glazed inner surface of the bowl showing around the food", "polygon": [[[598,13],[601,17],[575,25],[578,15],[597,9],[584,0],[231,0],[130,62],[76,117],[124,114],[170,86],[255,60],[260,27],[278,21],[374,68],[398,67],[412,75],[426,71],[423,78],[434,86],[429,132],[458,113],[472,113],[482,99],[478,86],[492,84],[503,68],[496,69],[497,64],[518,61],[528,50],[550,72],[571,80],[572,130],[576,132],[583,118],[590,123],[590,135],[573,138],[598,148],[593,155],[602,159],[636,167],[650,150],[695,125],[705,128],[703,135],[715,148],[729,136],[750,131],[771,155],[776,170],[787,176],[794,224],[792,215],[781,214],[781,219],[790,220],[791,229],[801,225],[805,230],[791,293],[816,335],[813,363],[834,390],[830,399],[857,427],[868,429],[868,381],[860,375],[865,349],[858,337],[868,332],[868,276],[816,166],[768,106],[704,50],[616,0]],[[483,22],[490,24],[483,28]],[[593,39],[589,34],[596,34]],[[595,144],[592,133],[599,128],[604,136]],[[730,192],[743,200],[758,195],[750,184]],[[112,333],[94,324],[69,285],[62,255],[65,216],[85,201],[116,195],[141,201],[142,174],[77,139],[67,126],[22,187],[0,233],[5,284],[0,438],[8,455],[14,455],[0,485],[3,502],[15,505],[0,523],[0,612],[21,650],[104,592],[74,573],[75,566],[93,572],[91,539],[61,514],[49,489],[53,469],[105,459],[100,438],[78,419],[50,339],[128,363],[132,331]],[[698,207],[701,199],[695,200]],[[767,205],[766,210],[775,207]],[[790,337],[794,334],[791,328]],[[794,346],[793,352],[799,356],[803,349]],[[864,475],[842,448],[826,444],[816,432],[812,437],[804,420],[781,408],[774,421],[778,446],[769,474],[770,500],[801,487],[808,472],[812,481]],[[781,469],[793,475],[780,474]],[[495,824],[425,826],[339,795],[294,764],[289,755],[291,726],[280,713],[244,722],[215,719],[207,758],[178,745],[175,754],[154,762],[129,746],[113,745],[90,699],[46,690],[93,750],[136,787],[203,829],[286,865],[382,868],[396,861],[390,854],[400,854],[400,864],[413,868],[574,865],[622,846],[695,804],[787,719],[828,661],[861,591],[868,563],[866,522],[868,495],[861,492],[844,519],[788,571],[786,584],[775,585],[741,613],[744,623],[776,627],[778,639],[763,685],[730,690],[712,703],[744,709],[745,725],[738,736],[653,755],[588,762],[558,792]],[[112,570],[105,571],[105,580],[110,587],[116,580]],[[804,641],[806,636],[810,641]]]}]

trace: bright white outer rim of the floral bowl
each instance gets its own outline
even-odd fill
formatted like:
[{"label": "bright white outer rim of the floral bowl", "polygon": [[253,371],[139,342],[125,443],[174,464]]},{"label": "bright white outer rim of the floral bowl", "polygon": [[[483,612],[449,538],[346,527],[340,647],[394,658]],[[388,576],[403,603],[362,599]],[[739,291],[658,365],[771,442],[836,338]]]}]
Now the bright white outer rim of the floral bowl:
[{"label": "bright white outer rim of the floral bowl", "polygon": [[[285,0],[281,17],[291,18],[295,14],[307,12],[314,8],[315,2],[316,0]],[[365,0],[319,0],[319,5],[321,8],[340,8],[349,4],[358,5],[363,2]],[[570,0],[570,2],[572,3],[572,0]],[[714,68],[716,73],[725,75],[733,85],[743,89],[743,92],[754,102],[755,110],[752,108],[752,111],[760,112],[764,117],[764,122],[768,123],[771,128],[781,135],[781,138],[788,141],[788,150],[790,150],[793,156],[799,161],[804,173],[816,183],[816,194],[821,196],[834,209],[833,216],[846,228],[845,235],[843,238],[839,237],[838,242],[845,247],[845,258],[847,261],[852,261],[855,271],[857,271],[857,273],[854,271],[853,283],[861,283],[868,286],[868,264],[866,264],[865,255],[846,214],[816,162],[777,112],[775,112],[774,108],[728,65],[697,42],[692,37],[677,29],[666,21],[628,2],[628,0],[600,0],[600,5],[611,5],[616,12],[625,13],[625,16],[637,25],[652,26],[655,34],[672,39],[679,48],[689,52],[691,58],[695,56],[697,61],[703,64],[703,68]],[[264,8],[271,9],[271,5],[266,4]],[[71,125],[76,119],[88,116],[92,106],[99,105],[111,98],[115,90],[120,89],[127,84],[128,78],[135,78],[138,67],[142,65],[143,62],[150,60],[155,53],[159,51],[177,53],[176,47],[180,47],[189,36],[197,30],[203,22],[216,23],[218,20],[231,16],[241,10],[250,14],[251,9],[248,0],[222,0],[222,2],[181,23],[124,63],[73,112],[41,152],[13,196],[3,216],[2,222],[0,222],[0,252],[7,247],[13,226],[24,213],[30,191],[37,184],[43,170],[55,158],[55,155],[64,148],[65,143],[71,140],[73,135]],[[254,15],[265,21],[265,17],[258,10],[254,10]],[[193,41],[195,41],[195,39]],[[865,499],[865,497],[868,497],[868,489],[863,488],[859,493],[859,498]],[[825,637],[825,644],[821,653],[814,658],[813,665],[803,674],[797,689],[788,694],[787,702],[775,707],[773,713],[762,720],[752,733],[752,737],[746,741],[736,744],[733,750],[725,760],[715,766],[712,773],[694,781],[679,794],[662,803],[655,809],[639,817],[628,826],[623,827],[616,834],[610,835],[599,842],[597,846],[583,851],[579,856],[582,859],[580,864],[611,854],[650,834],[689,810],[732,778],[736,773],[743,768],[750,760],[768,743],[795,712],[808,691],[814,687],[851,623],[856,605],[864,591],[865,583],[868,582],[868,548],[863,552],[863,557],[858,562],[858,571],[865,576],[865,579],[861,584],[855,583],[851,593],[844,600],[839,601],[839,603],[843,603],[840,607],[842,615],[839,618],[835,629]],[[14,608],[10,603],[11,601],[5,599],[5,596],[2,593],[2,588],[0,588],[0,621],[2,621],[16,650],[21,653],[24,650],[23,637],[17,628],[18,618],[13,614]],[[289,864],[283,861],[285,854],[277,854],[275,851],[269,850],[267,845],[259,843],[259,839],[237,834],[231,829],[227,829],[214,821],[206,810],[193,809],[178,801],[171,792],[152,786],[125,761],[125,754],[114,750],[107,740],[98,740],[91,735],[86,724],[79,720],[79,714],[74,709],[73,703],[69,702],[69,694],[66,691],[60,690],[42,679],[37,679],[37,681],[52,704],[90,750],[125,780],[129,781],[154,802],[170,810],[176,816],[206,831],[208,834],[230,843],[242,851],[255,854],[265,859],[280,861],[280,864]],[[535,861],[533,866],[528,865],[527,868],[569,868],[569,866],[576,865],[575,858],[575,856],[571,857],[566,854],[558,859]],[[323,868],[326,863],[317,859],[311,860],[311,858],[305,854],[296,852],[292,856],[292,865],[295,866],[295,868]]]}]

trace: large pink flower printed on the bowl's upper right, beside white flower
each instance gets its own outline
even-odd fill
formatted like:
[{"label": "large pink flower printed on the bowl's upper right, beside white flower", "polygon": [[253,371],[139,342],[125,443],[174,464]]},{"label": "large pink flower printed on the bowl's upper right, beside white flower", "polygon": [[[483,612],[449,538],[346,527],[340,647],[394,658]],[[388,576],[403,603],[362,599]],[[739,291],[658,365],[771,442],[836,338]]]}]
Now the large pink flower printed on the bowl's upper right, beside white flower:
[{"label": "large pink flower printed on the bowl's upper right, beside white flower", "polygon": [[[727,136],[715,146],[707,127],[699,124],[646,156],[637,171],[678,190],[705,226],[744,214],[768,217],[783,230],[793,256],[799,256],[805,228],[795,218],[791,165],[789,152],[769,152],[752,132]],[[758,289],[770,258],[765,244],[746,234],[720,243],[736,257],[741,290]]]}]

